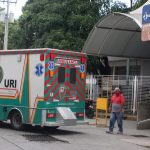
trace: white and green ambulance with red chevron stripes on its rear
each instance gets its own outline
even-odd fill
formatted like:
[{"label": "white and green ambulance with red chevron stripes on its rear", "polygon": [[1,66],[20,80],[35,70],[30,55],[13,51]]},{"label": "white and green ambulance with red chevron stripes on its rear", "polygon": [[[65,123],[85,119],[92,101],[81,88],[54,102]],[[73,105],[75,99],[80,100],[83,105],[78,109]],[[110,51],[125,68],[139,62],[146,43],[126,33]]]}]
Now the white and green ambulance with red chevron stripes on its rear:
[{"label": "white and green ambulance with red chevron stripes on its rear", "polygon": [[85,121],[86,55],[50,48],[0,51],[0,121],[59,127]]}]

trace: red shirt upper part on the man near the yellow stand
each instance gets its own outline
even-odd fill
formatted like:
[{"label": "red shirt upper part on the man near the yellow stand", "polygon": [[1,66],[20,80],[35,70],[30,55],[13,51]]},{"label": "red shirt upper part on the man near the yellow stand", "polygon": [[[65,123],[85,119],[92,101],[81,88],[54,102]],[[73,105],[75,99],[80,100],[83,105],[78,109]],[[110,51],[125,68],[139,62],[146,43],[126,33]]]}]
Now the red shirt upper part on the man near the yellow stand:
[{"label": "red shirt upper part on the man near the yellow stand", "polygon": [[125,103],[125,99],[124,96],[122,94],[113,94],[112,98],[111,98],[111,103],[112,104],[121,104],[124,105]]}]

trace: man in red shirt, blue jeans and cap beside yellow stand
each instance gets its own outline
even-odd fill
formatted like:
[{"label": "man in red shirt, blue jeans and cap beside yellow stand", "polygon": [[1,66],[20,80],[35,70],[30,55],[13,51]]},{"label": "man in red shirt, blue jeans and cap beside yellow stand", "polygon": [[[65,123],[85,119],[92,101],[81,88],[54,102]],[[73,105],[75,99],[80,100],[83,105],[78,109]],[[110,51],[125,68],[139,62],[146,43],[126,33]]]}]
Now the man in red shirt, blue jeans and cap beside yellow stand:
[{"label": "man in red shirt, blue jeans and cap beside yellow stand", "polygon": [[114,125],[117,120],[118,123],[118,132],[117,134],[123,134],[123,113],[122,109],[125,103],[125,99],[123,94],[121,94],[121,91],[118,87],[115,88],[114,94],[111,97],[111,104],[110,104],[110,124],[109,124],[109,130],[106,131],[106,133],[113,133]]}]

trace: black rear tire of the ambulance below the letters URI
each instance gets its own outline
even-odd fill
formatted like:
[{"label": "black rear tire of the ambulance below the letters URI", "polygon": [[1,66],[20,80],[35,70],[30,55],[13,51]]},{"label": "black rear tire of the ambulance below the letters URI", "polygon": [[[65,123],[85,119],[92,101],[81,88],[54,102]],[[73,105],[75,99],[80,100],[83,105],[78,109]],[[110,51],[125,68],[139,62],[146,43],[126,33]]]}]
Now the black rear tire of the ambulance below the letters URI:
[{"label": "black rear tire of the ambulance below the letters URI", "polygon": [[21,114],[18,111],[13,112],[10,118],[11,126],[15,130],[22,130],[23,124],[22,124],[22,117]]}]

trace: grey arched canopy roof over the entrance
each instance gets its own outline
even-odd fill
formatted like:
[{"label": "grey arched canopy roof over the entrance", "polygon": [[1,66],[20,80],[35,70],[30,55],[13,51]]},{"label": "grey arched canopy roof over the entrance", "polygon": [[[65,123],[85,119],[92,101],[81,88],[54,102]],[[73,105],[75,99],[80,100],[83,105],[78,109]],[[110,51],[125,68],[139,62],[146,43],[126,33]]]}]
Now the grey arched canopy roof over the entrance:
[{"label": "grey arched canopy roof over the entrance", "polygon": [[141,41],[142,24],[135,16],[112,13],[100,19],[90,32],[83,52],[96,56],[149,59],[150,42]]}]

